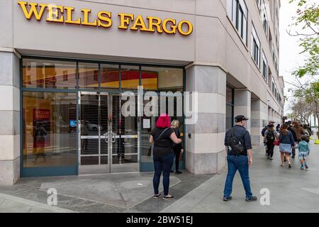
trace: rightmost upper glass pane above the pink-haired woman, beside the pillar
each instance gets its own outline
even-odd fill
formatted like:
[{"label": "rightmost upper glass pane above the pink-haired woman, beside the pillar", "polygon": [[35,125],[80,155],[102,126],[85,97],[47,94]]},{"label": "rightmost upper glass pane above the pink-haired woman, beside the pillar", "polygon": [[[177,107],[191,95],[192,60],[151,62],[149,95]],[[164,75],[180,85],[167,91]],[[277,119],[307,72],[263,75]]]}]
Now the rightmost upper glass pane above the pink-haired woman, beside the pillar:
[{"label": "rightmost upper glass pane above the pink-haired woman, beside the pillar", "polygon": [[183,70],[165,67],[142,67],[142,86],[155,92],[183,92]]}]

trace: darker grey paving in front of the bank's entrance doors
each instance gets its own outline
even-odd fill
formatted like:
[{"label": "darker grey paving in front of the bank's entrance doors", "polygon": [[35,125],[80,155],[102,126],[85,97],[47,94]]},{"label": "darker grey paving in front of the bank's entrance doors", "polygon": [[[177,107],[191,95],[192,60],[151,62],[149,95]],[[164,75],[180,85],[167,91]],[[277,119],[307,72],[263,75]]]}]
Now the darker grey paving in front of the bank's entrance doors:
[{"label": "darker grey paving in front of the bank's entrance doors", "polygon": [[[0,211],[157,213],[174,200],[152,199],[152,177],[152,172],[135,172],[19,179],[13,186],[0,186],[0,202],[6,199],[0,206]],[[211,177],[213,175],[195,176],[183,171],[182,175],[171,175],[169,190],[176,199],[180,199]],[[56,190],[56,208],[62,210],[52,210],[52,206],[47,206],[48,189]],[[162,190],[162,183],[159,189]]]}]

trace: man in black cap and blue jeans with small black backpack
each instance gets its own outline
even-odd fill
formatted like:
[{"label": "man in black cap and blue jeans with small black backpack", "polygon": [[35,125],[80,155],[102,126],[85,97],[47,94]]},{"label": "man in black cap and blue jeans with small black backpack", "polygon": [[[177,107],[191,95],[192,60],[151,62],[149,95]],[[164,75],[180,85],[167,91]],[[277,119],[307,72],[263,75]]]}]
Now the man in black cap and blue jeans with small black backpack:
[{"label": "man in black cap and blue jeans with small black backpack", "polygon": [[[252,165],[252,142],[250,133],[244,127],[248,118],[238,115],[235,126],[225,135],[225,150],[227,152],[228,175],[225,182],[223,201],[232,199],[233,179],[238,170],[246,192],[246,201],[256,201],[250,189],[249,167]],[[248,157],[247,157],[248,156]]]}]

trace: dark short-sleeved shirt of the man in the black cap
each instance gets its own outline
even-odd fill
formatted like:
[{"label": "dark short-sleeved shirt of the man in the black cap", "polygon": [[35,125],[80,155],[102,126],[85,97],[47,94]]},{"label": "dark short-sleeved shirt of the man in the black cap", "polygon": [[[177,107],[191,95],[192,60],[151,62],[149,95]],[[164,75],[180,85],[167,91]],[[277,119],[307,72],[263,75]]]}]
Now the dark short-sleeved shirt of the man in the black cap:
[{"label": "dark short-sleeved shirt of the man in the black cap", "polygon": [[[233,127],[234,135],[235,137],[240,140],[240,142],[245,147],[245,153],[244,155],[247,155],[247,150],[252,149],[252,141],[250,140],[250,133],[247,131],[247,129],[243,126],[235,125]],[[225,135],[225,146],[228,146],[229,140],[231,137],[230,130],[227,131]],[[230,150],[228,150],[228,154],[230,154]]]}]

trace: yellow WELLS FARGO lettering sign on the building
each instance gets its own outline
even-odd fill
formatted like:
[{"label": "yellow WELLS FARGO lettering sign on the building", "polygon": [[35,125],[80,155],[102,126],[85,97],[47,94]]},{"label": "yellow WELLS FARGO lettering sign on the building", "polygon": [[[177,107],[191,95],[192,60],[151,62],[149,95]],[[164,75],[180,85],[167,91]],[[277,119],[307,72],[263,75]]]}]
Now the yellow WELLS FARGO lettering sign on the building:
[{"label": "yellow WELLS FARGO lettering sign on the building", "polygon": [[[18,5],[30,20],[35,17],[41,21],[45,16],[45,21],[53,23],[66,23],[78,26],[94,26],[101,28],[111,28],[113,26],[112,13],[109,11],[99,11],[95,18],[92,18],[91,9],[81,9],[82,16],[74,18],[74,7],[57,6],[55,4],[37,4],[28,3],[27,1],[18,1]],[[151,32],[151,33],[167,33],[181,35],[190,35],[193,32],[193,25],[189,21],[177,21],[173,18],[161,19],[158,17],[147,16],[143,18],[141,15],[133,15],[130,13],[118,13],[118,29],[131,31]]]}]

